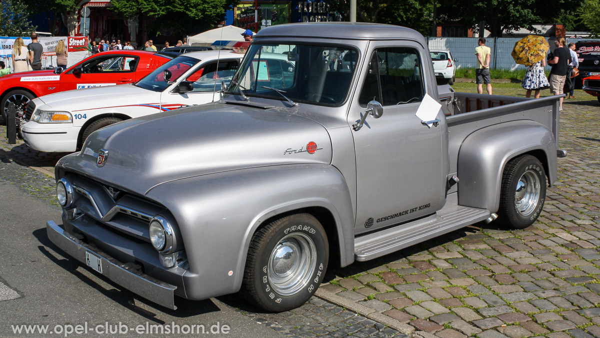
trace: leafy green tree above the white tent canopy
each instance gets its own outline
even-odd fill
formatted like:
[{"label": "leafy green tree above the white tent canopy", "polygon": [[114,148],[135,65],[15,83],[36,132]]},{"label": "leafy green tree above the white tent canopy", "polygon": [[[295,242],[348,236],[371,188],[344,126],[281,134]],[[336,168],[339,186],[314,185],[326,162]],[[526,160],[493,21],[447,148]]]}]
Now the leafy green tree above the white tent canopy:
[{"label": "leafy green tree above the white tent canopy", "polygon": [[[148,30],[185,35],[214,28],[238,0],[113,0],[111,10],[128,19],[149,17]],[[170,34],[168,34],[170,33]]]}]

